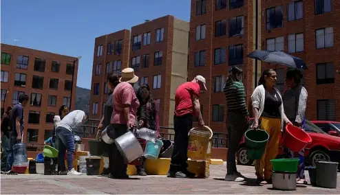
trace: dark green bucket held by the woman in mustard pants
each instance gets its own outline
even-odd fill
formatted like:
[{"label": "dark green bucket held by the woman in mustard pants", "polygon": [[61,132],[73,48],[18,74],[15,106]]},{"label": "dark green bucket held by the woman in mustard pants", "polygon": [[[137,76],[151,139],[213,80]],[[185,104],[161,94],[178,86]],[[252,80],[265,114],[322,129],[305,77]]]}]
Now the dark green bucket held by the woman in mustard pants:
[{"label": "dark green bucket held by the woman in mustard pants", "polygon": [[262,159],[269,139],[268,133],[266,133],[265,130],[249,129],[244,134],[244,137],[246,137],[246,148],[249,159]]}]

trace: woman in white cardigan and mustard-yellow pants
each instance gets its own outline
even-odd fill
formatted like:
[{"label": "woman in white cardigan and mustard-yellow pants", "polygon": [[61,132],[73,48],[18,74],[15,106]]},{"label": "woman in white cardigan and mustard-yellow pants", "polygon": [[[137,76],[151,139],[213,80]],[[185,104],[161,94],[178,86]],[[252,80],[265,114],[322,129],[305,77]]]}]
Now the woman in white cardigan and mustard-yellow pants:
[{"label": "woman in white cardigan and mustard-yellow pants", "polygon": [[252,128],[266,130],[269,135],[262,159],[255,161],[257,183],[264,185],[272,183],[270,160],[275,159],[279,151],[279,135],[283,129],[283,122],[292,124],[284,114],[280,92],[274,87],[276,81],[276,71],[273,69],[265,70],[259,78],[259,86],[255,88],[253,95],[251,95],[254,113]]}]

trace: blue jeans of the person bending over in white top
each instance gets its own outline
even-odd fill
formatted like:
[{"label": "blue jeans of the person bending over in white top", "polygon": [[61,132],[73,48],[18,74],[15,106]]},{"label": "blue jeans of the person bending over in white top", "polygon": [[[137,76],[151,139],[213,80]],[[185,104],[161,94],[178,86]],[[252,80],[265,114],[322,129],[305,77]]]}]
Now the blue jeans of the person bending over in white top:
[{"label": "blue jeans of the person bending over in white top", "polygon": [[59,154],[58,154],[58,165],[59,165],[59,170],[63,171],[65,170],[65,152],[67,150],[67,165],[68,165],[68,170],[73,169],[73,154],[75,150],[74,146],[74,136],[73,133],[70,130],[67,130],[66,128],[63,127],[58,127],[56,128],[56,141],[58,141],[58,148]]}]

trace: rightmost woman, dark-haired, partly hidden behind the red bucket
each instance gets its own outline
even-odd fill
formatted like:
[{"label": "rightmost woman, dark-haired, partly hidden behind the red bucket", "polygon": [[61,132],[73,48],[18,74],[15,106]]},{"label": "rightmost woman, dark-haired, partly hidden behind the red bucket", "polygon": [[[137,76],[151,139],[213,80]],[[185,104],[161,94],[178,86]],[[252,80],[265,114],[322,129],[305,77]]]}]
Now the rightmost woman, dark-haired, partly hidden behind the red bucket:
[{"label": "rightmost woman, dark-haired, partly hidden behind the red bucket", "polygon": [[[286,73],[286,84],[289,89],[283,95],[284,112],[286,116],[295,126],[302,129],[304,129],[306,122],[305,112],[308,98],[306,88],[301,85],[301,79],[303,77],[301,71],[297,69],[288,70]],[[308,184],[305,176],[304,149],[300,152],[294,152],[288,148],[288,157],[299,158],[297,183]]]}]

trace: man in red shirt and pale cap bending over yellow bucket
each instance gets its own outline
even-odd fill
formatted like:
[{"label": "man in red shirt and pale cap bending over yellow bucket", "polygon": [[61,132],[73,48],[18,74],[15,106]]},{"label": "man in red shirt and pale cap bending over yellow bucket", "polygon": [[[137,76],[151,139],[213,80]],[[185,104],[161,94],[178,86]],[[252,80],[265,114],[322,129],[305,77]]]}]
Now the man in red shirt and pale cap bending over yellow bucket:
[{"label": "man in red shirt and pale cap bending over yellow bucket", "polygon": [[176,90],[175,114],[173,124],[175,139],[171,157],[169,177],[193,177],[194,173],[187,170],[187,152],[189,130],[193,128],[193,115],[198,116],[198,125],[204,126],[200,110],[200,90],[206,91],[206,81],[202,76],[195,76],[191,82],[184,82]]}]

